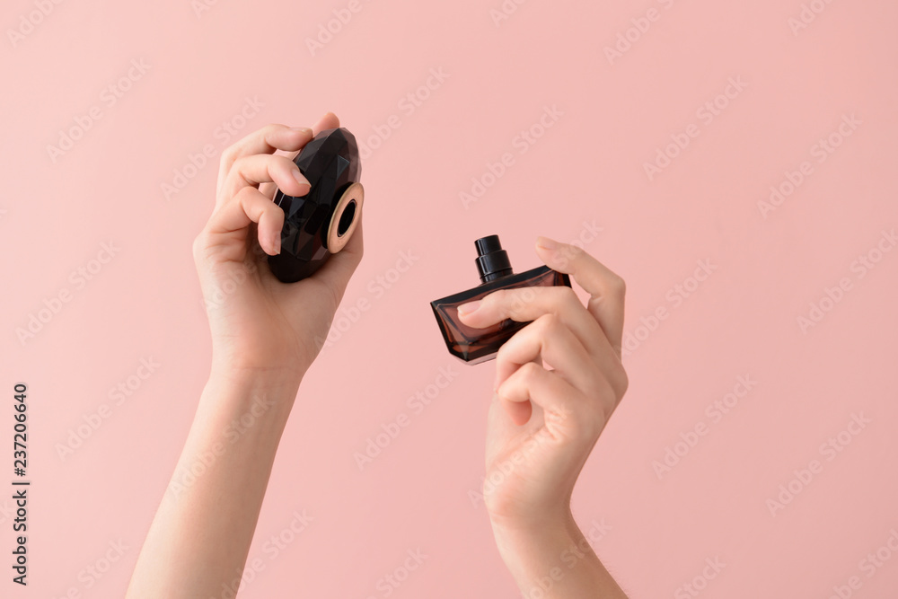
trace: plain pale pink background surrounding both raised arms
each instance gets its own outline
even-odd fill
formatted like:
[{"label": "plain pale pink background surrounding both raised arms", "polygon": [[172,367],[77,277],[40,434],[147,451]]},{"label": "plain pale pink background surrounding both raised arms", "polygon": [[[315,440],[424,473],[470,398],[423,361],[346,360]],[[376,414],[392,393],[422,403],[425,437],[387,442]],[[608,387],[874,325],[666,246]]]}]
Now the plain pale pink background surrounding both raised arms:
[{"label": "plain pale pink background surrounding both raised arms", "polygon": [[[799,0],[507,0],[498,22],[500,0],[362,0],[357,13],[342,0],[223,0],[201,13],[188,0],[41,3],[46,16],[9,0],[0,18],[0,458],[12,467],[23,381],[33,480],[27,589],[8,579],[12,502],[0,493],[0,595],[122,595],[207,377],[190,245],[218,156],[237,138],[218,128],[242,137],[333,110],[377,146],[363,171],[365,260],[337,315],[343,330],[300,391],[250,552],[264,570],[242,596],[387,596],[379,581],[418,549],[427,559],[392,596],[519,595],[468,497],[484,469],[492,367],[453,362],[428,306],[477,283],[471,242],[490,233],[515,269],[538,265],[533,240],[546,234],[585,240],[628,282],[631,385],[574,507],[585,531],[610,526],[594,546],[633,597],[690,596],[682,585],[706,559],[726,566],[700,596],[828,597],[850,577],[851,596],[894,596],[898,553],[881,550],[890,559],[872,576],[864,561],[898,530],[898,251],[877,253],[898,225],[893,2],[814,0],[801,29],[789,21]],[[351,18],[338,27],[333,11]],[[22,18],[40,22],[31,31]],[[311,51],[306,40],[330,21],[339,31]],[[626,51],[609,59],[619,34],[629,48],[620,41]],[[113,104],[103,91],[132,61],[148,67]],[[441,69],[444,80],[421,87]],[[710,119],[701,107],[730,78],[744,88],[730,87]],[[263,106],[242,120],[247,97]],[[93,107],[101,118],[54,160],[48,145]],[[561,114],[541,129],[546,107]],[[841,138],[845,115],[860,124]],[[522,145],[531,128],[541,137]],[[831,135],[841,145],[821,154]],[[684,136],[650,181],[644,164]],[[213,157],[190,168],[204,145]],[[514,162],[490,179],[505,153]],[[770,187],[788,189],[804,162],[804,181],[762,214]],[[163,184],[185,170],[166,198]],[[465,207],[472,178],[489,188]],[[585,224],[601,232],[590,239]],[[119,250],[101,264],[104,242]],[[398,273],[401,252],[415,259]],[[860,267],[871,252],[876,267]],[[713,270],[696,288],[700,260]],[[91,280],[73,277],[79,268]],[[22,343],[16,330],[66,292]],[[360,300],[368,309],[351,313]],[[827,312],[802,330],[812,303]],[[160,366],[115,405],[110,389],[136,383],[141,358]],[[453,382],[409,409],[446,366]],[[745,375],[752,390],[712,418],[708,406]],[[109,418],[61,458],[57,444],[102,404]],[[403,413],[409,426],[360,471],[354,453]],[[844,432],[854,416],[868,420],[857,435]],[[694,446],[676,445],[697,426],[706,434]],[[840,452],[821,447],[840,433]],[[653,462],[668,448],[683,455],[659,478]],[[771,515],[768,500],[812,460],[821,468]],[[313,522],[273,558],[269,538],[302,510]],[[99,580],[84,574],[104,568],[110,542],[128,549]]]}]

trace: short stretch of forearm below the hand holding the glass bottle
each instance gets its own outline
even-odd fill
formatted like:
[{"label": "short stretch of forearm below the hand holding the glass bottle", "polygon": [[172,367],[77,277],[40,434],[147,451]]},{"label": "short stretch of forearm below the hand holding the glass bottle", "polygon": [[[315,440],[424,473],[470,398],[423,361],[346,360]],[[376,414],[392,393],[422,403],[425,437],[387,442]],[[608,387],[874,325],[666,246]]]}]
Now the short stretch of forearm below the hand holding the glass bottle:
[{"label": "short stretch of forearm below the hand holding the glass bottle", "polygon": [[626,599],[573,517],[538,530],[493,523],[499,553],[526,599]]}]

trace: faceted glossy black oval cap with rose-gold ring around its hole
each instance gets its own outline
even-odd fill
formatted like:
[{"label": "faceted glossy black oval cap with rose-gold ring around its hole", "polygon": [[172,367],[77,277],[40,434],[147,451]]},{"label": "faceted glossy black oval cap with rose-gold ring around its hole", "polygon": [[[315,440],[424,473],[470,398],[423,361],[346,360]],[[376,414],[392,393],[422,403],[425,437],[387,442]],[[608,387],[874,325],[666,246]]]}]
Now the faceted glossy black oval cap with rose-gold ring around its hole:
[{"label": "faceted glossy black oval cap with rose-gold ring around its hole", "polygon": [[284,209],[284,227],[281,252],[269,256],[269,267],[284,283],[310,277],[330,254],[343,249],[365,201],[358,145],[348,129],[321,131],[296,154],[294,163],[312,189],[300,198],[277,189],[274,197]]}]

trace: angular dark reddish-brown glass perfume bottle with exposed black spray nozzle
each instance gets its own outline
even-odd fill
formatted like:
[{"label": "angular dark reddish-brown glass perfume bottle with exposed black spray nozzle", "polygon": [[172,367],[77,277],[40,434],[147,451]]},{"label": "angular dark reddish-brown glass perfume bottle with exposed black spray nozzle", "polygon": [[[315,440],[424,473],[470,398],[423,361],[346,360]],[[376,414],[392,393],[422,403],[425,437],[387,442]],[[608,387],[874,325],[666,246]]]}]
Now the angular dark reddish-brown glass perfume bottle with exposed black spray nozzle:
[{"label": "angular dark reddish-brown glass perfume bottle with exposed black spray nozzle", "polygon": [[474,329],[459,320],[458,306],[482,299],[497,289],[570,286],[568,275],[552,270],[548,266],[515,275],[508,260],[508,253],[499,243],[498,235],[481,237],[474,242],[474,245],[477,247],[475,261],[477,271],[480,273],[480,286],[430,303],[449,353],[468,364],[480,364],[496,357],[498,348],[518,330],[523,329],[527,322],[506,319],[486,329]]}]

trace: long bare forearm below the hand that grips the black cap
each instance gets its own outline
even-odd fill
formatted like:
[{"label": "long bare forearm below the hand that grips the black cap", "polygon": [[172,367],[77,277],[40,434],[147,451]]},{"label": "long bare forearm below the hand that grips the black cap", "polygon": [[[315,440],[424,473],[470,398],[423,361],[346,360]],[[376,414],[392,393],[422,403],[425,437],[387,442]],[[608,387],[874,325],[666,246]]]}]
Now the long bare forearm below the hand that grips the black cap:
[{"label": "long bare forearm below the hand that grips the black cap", "polygon": [[239,580],[298,386],[213,372],[128,599],[217,596]]}]

